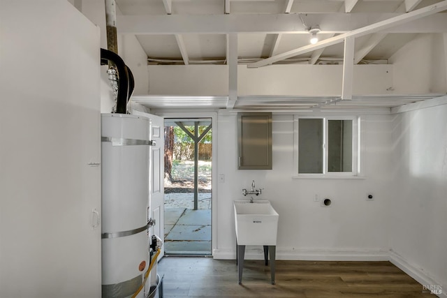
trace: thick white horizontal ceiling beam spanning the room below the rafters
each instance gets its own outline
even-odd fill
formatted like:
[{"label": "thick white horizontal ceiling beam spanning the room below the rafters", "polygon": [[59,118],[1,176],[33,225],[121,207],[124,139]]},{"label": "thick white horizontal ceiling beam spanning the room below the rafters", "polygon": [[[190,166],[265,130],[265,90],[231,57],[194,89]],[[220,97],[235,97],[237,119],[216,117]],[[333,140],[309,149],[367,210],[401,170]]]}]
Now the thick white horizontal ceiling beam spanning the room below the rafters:
[{"label": "thick white horizontal ceiling beam spanning the room below the rafters", "polygon": [[[441,5],[439,2],[435,5]],[[423,8],[421,8],[423,9]],[[402,16],[401,13],[314,13],[306,22],[319,24],[321,33],[345,33],[383,20]],[[385,28],[384,28],[385,29]],[[300,16],[293,13],[277,15],[117,15],[120,34],[182,34],[182,33],[309,33]],[[405,26],[388,28],[388,33],[444,33],[446,15],[431,15]]]}]

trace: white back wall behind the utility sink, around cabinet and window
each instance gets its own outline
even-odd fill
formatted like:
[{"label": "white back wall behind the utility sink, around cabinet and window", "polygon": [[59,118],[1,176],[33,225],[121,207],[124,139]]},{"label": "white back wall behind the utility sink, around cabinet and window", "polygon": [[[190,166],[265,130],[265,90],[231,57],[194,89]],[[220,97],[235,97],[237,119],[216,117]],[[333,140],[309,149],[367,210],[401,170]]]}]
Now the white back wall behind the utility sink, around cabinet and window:
[{"label": "white back wall behind the utility sink, around cabinet and window", "polygon": [[[217,167],[217,249],[214,258],[235,258],[233,200],[244,199],[251,180],[265,188],[256,199],[279,213],[277,258],[309,260],[388,260],[388,200],[393,194],[393,117],[362,117],[365,179],[293,179],[293,115],[273,115],[273,169],[237,170],[236,115],[219,113]],[[367,202],[367,193],[374,201]],[[330,207],[314,195],[330,198]],[[245,198],[247,199],[247,198]],[[247,258],[261,258],[261,247]]]}]

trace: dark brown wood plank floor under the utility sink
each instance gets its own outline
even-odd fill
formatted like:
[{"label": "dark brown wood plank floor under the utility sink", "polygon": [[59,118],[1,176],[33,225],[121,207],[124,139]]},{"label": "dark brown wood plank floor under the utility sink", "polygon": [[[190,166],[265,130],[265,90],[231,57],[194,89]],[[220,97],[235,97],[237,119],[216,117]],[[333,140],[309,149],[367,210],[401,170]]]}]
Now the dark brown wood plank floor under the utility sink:
[{"label": "dark brown wood plank floor under the utility sink", "polygon": [[390,262],[276,261],[276,284],[263,260],[165,257],[158,265],[163,297],[436,297]]}]

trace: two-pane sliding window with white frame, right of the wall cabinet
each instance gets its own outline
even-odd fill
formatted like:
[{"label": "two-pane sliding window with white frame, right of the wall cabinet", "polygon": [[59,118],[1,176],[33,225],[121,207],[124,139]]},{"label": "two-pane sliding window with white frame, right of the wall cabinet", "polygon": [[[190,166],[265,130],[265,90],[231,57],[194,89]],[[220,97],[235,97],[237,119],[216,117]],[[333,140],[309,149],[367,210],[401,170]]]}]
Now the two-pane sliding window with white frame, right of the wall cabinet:
[{"label": "two-pane sliding window with white frame, right of the wall cabinet", "polygon": [[356,117],[295,117],[295,173],[356,176],[358,121]]}]

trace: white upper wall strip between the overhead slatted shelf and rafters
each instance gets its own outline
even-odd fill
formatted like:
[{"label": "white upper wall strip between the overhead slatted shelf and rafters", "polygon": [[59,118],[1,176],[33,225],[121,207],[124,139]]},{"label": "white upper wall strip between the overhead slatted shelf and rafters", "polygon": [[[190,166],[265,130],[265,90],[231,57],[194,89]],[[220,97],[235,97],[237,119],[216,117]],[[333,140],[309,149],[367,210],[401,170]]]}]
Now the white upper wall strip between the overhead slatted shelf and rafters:
[{"label": "white upper wall strip between the overhead slatted shelf and rafters", "polygon": [[[228,66],[151,65],[150,95],[226,96]],[[273,65],[261,68],[237,67],[239,96],[340,96],[342,65]],[[168,84],[166,82],[169,82]],[[390,94],[393,66],[354,66],[354,95]]]}]

